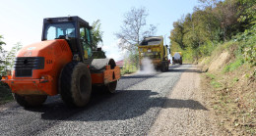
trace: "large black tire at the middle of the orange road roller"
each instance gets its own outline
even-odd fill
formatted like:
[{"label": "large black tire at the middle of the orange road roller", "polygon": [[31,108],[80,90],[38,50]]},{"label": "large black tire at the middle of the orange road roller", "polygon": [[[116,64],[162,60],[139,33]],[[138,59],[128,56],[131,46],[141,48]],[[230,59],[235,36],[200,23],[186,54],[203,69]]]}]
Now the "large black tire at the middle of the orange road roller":
[{"label": "large black tire at the middle of the orange road roller", "polygon": [[60,74],[59,91],[68,106],[86,106],[92,93],[91,73],[87,65],[79,62],[67,64]]}]

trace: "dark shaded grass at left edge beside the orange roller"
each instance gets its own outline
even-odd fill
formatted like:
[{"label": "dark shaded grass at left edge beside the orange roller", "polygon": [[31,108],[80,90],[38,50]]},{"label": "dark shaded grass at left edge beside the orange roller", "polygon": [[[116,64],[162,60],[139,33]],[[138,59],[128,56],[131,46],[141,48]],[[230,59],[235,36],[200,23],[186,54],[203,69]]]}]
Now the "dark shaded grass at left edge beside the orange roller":
[{"label": "dark shaded grass at left edge beside the orange roller", "polygon": [[0,105],[13,101],[11,90],[6,84],[0,82]]}]

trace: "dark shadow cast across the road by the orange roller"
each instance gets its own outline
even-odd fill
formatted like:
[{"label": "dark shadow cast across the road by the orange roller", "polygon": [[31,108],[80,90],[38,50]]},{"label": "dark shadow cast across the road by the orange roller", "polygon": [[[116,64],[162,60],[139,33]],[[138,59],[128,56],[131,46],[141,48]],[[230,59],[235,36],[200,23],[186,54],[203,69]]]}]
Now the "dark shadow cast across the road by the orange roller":
[{"label": "dark shadow cast across the road by the orange roller", "polygon": [[158,95],[151,90],[119,90],[112,95],[94,92],[86,108],[68,108],[58,101],[26,110],[41,113],[45,120],[76,121],[125,120],[147,113],[152,108],[207,110],[194,100],[167,99]]}]

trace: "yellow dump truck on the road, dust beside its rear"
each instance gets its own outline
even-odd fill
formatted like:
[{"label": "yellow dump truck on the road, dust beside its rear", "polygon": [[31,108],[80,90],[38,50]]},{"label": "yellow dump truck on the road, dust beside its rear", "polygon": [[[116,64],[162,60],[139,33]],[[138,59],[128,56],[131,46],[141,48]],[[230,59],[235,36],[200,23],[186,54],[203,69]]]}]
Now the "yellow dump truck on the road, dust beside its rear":
[{"label": "yellow dump truck on the road, dust beside its rear", "polygon": [[161,71],[168,70],[170,61],[168,60],[167,45],[163,45],[162,36],[145,37],[138,46],[140,68],[143,70],[142,60],[148,58],[154,67]]}]

